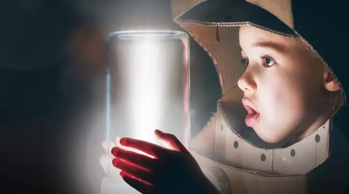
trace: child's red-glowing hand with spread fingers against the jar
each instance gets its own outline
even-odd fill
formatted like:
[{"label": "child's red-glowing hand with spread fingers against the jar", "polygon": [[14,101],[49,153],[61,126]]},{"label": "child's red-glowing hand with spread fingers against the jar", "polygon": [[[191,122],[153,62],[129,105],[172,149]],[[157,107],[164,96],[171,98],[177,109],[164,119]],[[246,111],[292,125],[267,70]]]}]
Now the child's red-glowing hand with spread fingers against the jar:
[{"label": "child's red-glowing hand with spread fingers against the jar", "polygon": [[142,151],[153,158],[113,147],[112,163],[121,169],[121,177],[142,194],[219,194],[206,178],[190,152],[169,133],[155,130],[156,137],[170,149],[136,140],[121,138],[121,146]]}]

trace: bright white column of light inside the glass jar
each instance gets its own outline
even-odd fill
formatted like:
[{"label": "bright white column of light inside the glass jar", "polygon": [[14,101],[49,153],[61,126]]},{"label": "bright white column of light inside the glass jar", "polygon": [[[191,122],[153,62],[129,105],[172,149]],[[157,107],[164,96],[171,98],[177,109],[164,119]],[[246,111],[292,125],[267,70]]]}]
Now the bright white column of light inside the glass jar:
[{"label": "bright white column of light inside the glass jar", "polygon": [[163,110],[163,90],[164,76],[162,64],[164,61],[159,58],[164,52],[160,50],[159,41],[154,39],[144,39],[134,41],[134,55],[130,56],[131,64],[126,67],[129,72],[129,83],[127,88],[132,98],[130,116],[132,122],[132,138],[157,143],[154,130],[159,129],[164,115]]}]

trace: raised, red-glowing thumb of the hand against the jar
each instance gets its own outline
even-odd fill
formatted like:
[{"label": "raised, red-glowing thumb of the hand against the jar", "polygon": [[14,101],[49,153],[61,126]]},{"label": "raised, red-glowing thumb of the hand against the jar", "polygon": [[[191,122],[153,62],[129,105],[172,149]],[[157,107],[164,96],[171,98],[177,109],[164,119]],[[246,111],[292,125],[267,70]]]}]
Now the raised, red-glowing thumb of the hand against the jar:
[{"label": "raised, red-glowing thumb of the hand against the jar", "polygon": [[171,133],[165,133],[156,129],[154,131],[156,138],[163,144],[167,145],[168,148],[174,151],[188,152],[187,148]]}]

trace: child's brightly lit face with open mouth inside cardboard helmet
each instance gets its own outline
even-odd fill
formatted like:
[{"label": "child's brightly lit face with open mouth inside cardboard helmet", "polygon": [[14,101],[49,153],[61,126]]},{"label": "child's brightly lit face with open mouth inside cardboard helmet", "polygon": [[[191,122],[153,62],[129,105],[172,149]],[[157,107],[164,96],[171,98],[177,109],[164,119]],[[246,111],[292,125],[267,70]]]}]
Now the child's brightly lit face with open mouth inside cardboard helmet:
[{"label": "child's brightly lit face with open mouth inside cardboard helmet", "polygon": [[249,112],[246,124],[269,143],[311,127],[320,114],[323,68],[294,38],[244,26],[239,41],[248,64],[238,81]]}]

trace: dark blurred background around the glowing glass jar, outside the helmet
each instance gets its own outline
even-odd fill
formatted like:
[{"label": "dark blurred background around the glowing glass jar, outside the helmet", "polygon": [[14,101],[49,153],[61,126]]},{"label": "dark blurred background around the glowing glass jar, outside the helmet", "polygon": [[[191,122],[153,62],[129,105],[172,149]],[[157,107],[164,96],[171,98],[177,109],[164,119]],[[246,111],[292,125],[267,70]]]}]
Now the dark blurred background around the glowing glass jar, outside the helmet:
[{"label": "dark blurred background around the glowing glass jar, outside the helmet", "polygon": [[[181,30],[170,0],[6,0],[0,21],[0,193],[98,193],[106,36]],[[190,52],[195,135],[221,90],[192,39]]]}]

